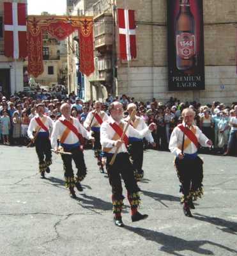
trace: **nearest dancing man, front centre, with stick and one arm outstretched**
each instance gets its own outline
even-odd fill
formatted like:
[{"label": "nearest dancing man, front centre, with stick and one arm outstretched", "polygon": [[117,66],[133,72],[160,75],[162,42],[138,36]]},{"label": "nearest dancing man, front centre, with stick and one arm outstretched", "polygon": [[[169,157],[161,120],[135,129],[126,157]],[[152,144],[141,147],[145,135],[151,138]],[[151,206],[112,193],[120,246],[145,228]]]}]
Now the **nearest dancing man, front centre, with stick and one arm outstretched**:
[{"label": "nearest dancing man, front centre, with stick and one arm outstretched", "polygon": [[[123,120],[123,105],[120,102],[111,104],[111,116],[107,122],[103,122],[100,132],[100,141],[102,143],[103,152],[107,152],[107,172],[109,175],[109,183],[112,187],[112,204],[114,213],[114,223],[118,227],[123,227],[121,211],[123,208],[123,188],[121,178],[125,182],[127,197],[131,207],[132,221],[139,221],[148,218],[148,215],[142,215],[137,211],[140,204],[139,188],[134,177],[134,169],[130,162],[126,146],[128,145],[128,137],[143,138],[150,131],[156,129],[155,124],[150,124],[142,131],[137,131],[131,125],[128,126],[126,136],[121,140],[126,122]],[[118,155],[112,166],[111,162],[114,152],[118,149]],[[120,176],[121,175],[121,176]]]}]

